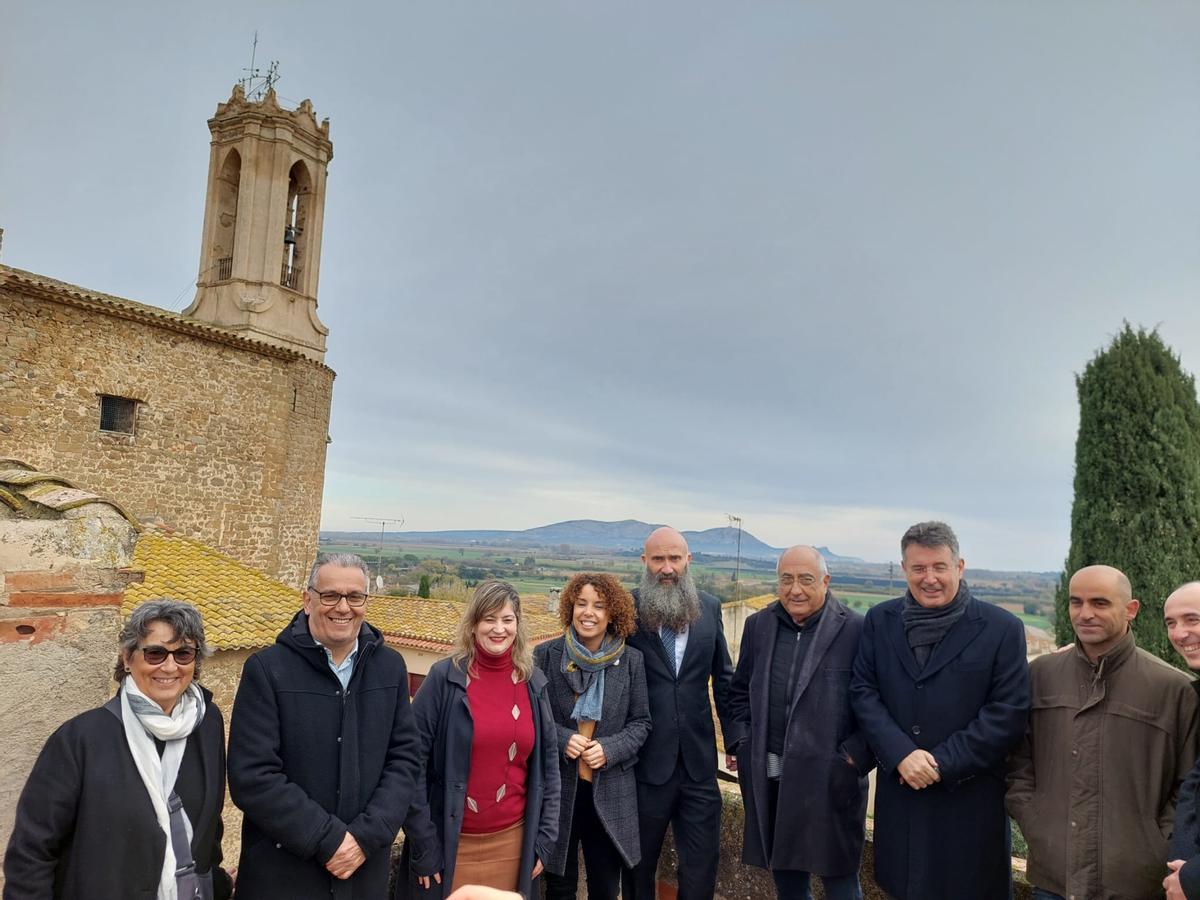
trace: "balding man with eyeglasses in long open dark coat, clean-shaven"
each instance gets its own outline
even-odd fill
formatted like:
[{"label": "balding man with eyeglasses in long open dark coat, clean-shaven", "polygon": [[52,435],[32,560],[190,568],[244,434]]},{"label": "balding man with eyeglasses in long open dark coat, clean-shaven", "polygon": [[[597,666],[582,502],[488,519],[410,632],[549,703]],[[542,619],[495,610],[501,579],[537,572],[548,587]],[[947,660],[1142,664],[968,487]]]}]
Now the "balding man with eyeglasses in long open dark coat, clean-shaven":
[{"label": "balding man with eyeglasses in long open dark coat, clean-shaven", "polygon": [[[730,690],[745,805],[742,862],[769,869],[780,900],[862,900],[858,866],[875,755],[850,708],[863,617],[829,590],[812,547],[779,558],[779,602],[746,619]],[[780,798],[784,799],[780,803]]]}]

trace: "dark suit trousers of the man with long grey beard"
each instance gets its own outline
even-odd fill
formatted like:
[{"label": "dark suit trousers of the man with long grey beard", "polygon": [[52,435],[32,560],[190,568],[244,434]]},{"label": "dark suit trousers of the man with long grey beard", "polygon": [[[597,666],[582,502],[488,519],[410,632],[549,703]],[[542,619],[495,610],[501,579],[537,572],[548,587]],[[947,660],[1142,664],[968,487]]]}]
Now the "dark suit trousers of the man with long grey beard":
[{"label": "dark suit trousers of the man with long grey beard", "polygon": [[642,862],[625,877],[622,900],[654,900],[659,853],[667,826],[674,833],[678,900],[712,900],[721,853],[721,792],[716,779],[692,781],[682,766],[664,785],[637,782]]}]

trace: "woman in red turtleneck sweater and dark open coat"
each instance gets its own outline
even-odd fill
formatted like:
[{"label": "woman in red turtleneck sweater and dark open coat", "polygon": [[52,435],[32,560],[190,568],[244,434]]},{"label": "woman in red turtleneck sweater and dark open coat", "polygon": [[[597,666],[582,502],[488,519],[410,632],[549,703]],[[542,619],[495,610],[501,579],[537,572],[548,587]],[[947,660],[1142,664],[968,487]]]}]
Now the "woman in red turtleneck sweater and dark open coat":
[{"label": "woman in red turtleneck sweater and dark open coat", "polygon": [[535,896],[558,832],[558,744],[511,584],[475,589],[455,653],[430,670],[413,713],[424,784],[404,822],[410,877],[397,896],[462,884]]}]

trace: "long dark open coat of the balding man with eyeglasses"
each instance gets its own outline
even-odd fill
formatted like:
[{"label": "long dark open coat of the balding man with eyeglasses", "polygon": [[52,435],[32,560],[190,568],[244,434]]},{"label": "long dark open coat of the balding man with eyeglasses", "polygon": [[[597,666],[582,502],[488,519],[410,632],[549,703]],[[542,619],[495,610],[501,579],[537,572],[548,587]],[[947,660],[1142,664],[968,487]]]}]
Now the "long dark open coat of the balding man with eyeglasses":
[{"label": "long dark open coat of the balding man with eyeglasses", "polygon": [[863,617],[826,594],[812,646],[796,678],[780,803],[772,822],[767,716],[780,625],[774,606],[746,619],[733,674],[733,718],[745,731],[738,748],[738,781],[745,802],[742,862],[762,869],[851,875],[863,854],[866,774],[875,768],[875,754],[850,707],[850,676]]}]

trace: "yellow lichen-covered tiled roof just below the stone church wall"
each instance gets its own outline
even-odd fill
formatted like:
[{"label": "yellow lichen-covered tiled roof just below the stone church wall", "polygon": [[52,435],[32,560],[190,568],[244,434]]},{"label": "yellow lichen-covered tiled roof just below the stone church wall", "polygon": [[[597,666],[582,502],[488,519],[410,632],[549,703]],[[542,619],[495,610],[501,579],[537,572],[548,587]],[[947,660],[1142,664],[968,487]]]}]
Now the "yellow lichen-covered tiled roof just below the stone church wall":
[{"label": "yellow lichen-covered tiled roof just below the stone church wall", "polygon": [[200,541],[160,529],[138,539],[133,565],[145,574],[125,592],[121,613],[168,596],[194,604],[204,634],[218,650],[266,647],[300,608],[300,593]]}]

